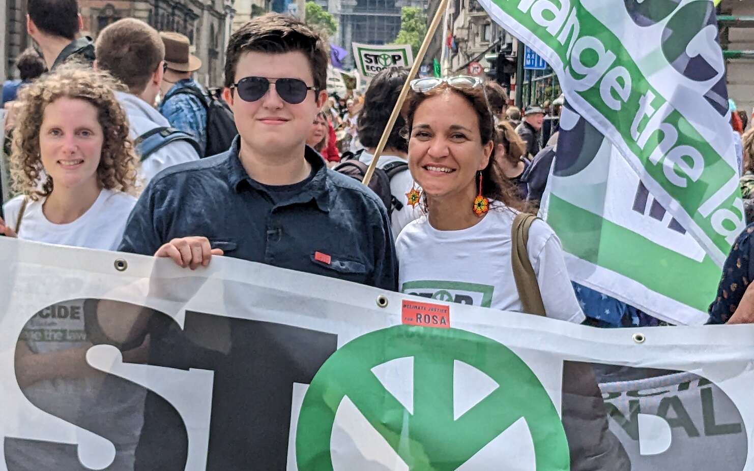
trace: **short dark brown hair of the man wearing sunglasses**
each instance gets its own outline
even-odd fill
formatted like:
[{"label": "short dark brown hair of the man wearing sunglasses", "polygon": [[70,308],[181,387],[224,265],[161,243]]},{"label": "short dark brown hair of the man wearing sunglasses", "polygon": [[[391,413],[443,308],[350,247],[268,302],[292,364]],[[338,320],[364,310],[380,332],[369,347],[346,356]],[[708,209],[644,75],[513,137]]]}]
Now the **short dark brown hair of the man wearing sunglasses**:
[{"label": "short dark brown hair of the man wearing sunglasses", "polygon": [[[280,54],[300,51],[309,60],[314,88],[326,90],[329,49],[323,38],[294,17],[268,13],[231,35],[225,51],[225,87],[235,83],[238,59],[249,52]],[[307,84],[309,85],[309,84]]]}]

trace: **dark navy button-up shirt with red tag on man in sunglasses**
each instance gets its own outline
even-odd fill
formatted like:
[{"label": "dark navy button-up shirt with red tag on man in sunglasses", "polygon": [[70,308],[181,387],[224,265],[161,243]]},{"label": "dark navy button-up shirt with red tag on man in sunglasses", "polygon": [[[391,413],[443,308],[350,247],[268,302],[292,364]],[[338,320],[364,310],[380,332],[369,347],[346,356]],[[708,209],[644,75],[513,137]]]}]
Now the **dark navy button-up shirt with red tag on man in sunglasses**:
[{"label": "dark navy button-up shirt with red tag on man in sunglasses", "polygon": [[171,239],[204,236],[226,257],[397,290],[388,213],[372,190],[328,170],[310,147],[312,172],[304,181],[259,184],[244,169],[238,145],[236,138],[225,153],[153,178],[119,250],[152,255]]}]

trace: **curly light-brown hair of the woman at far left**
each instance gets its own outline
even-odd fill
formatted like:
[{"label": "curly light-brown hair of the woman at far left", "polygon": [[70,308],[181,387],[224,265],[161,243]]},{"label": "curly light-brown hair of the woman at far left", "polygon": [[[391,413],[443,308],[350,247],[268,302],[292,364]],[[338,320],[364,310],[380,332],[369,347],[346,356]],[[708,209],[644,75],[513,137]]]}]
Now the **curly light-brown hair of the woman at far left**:
[{"label": "curly light-brown hair of the woman at far left", "polygon": [[123,88],[106,72],[93,71],[78,64],[63,65],[24,87],[18,97],[22,105],[11,151],[14,190],[32,200],[52,193],[54,182],[42,166],[39,129],[44,109],[65,97],[82,99],[97,108],[104,136],[100,166],[97,167],[100,187],[133,194],[139,160],[128,137],[126,114],[113,91]]}]

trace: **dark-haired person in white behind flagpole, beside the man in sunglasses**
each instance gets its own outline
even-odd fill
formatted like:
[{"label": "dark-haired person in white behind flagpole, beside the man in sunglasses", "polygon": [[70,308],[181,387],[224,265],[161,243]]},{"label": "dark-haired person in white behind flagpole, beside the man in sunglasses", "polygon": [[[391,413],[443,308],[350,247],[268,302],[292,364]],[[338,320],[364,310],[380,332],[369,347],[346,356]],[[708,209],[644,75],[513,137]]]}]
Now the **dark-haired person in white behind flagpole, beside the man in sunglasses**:
[{"label": "dark-haired person in white behind flagpole, beside the man in sunglasses", "polygon": [[[364,146],[364,149],[357,153],[360,162],[369,165],[374,160],[377,144],[382,138],[385,126],[388,125],[388,119],[398,101],[400,89],[403,88],[408,77],[409,73],[405,68],[392,66],[382,69],[369,82],[358,122],[359,140]],[[406,120],[399,115],[385,143],[385,149],[382,150],[377,163],[378,169],[385,169],[396,163],[407,163],[409,144],[404,135],[405,127]],[[394,198],[394,207],[391,212],[394,238],[397,238],[406,224],[421,216],[421,209],[409,204],[408,195],[413,187],[415,187],[414,180],[406,164],[405,170],[397,172],[390,181],[390,193]]]}]

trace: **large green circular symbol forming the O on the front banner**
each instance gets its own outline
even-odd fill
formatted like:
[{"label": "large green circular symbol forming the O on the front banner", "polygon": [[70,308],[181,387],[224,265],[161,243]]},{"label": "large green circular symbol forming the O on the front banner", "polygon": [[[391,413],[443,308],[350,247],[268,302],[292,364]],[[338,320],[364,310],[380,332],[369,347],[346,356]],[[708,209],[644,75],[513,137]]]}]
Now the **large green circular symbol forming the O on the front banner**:
[{"label": "large green circular symbol forming the O on the front banner", "polygon": [[[372,372],[404,357],[414,362],[412,413]],[[456,360],[502,386],[454,419]],[[457,469],[520,418],[532,435],[536,469],[569,469],[566,433],[537,376],[510,349],[475,333],[401,325],[339,348],[314,376],[302,403],[296,433],[300,471],[333,471],[330,437],[345,397],[409,469]]]}]

